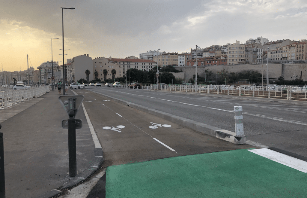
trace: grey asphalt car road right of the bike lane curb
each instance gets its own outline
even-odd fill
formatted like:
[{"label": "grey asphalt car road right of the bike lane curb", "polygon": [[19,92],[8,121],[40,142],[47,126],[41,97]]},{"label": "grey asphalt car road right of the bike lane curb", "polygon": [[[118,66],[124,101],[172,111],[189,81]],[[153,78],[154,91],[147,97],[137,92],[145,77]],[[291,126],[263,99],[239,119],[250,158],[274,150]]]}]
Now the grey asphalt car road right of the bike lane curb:
[{"label": "grey asphalt car road right of the bike lane curb", "polygon": [[241,105],[247,140],[307,157],[305,106],[152,92],[146,89],[99,87],[91,90],[229,131],[235,131],[233,107]]}]

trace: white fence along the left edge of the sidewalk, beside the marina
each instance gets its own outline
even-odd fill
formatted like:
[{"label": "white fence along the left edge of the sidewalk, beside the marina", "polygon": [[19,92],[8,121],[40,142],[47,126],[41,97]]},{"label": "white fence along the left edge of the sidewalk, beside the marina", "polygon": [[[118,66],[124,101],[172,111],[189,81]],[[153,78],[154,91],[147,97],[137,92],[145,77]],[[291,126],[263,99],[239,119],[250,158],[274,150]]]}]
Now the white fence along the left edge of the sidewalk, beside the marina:
[{"label": "white fence along the left edge of the sidewalk, beside the marina", "polygon": [[15,106],[17,103],[21,103],[21,101],[29,100],[33,97],[39,97],[47,91],[49,91],[49,86],[0,91],[0,109],[7,109],[10,106]]}]

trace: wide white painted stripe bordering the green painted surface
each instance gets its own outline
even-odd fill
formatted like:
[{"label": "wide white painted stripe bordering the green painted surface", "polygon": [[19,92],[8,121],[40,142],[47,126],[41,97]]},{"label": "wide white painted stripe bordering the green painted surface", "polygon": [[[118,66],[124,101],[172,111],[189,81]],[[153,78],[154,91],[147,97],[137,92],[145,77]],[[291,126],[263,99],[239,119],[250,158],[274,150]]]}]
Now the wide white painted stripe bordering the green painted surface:
[{"label": "wide white painted stripe bordering the green painted surface", "polygon": [[276,161],[280,164],[284,164],[286,166],[289,166],[291,168],[294,168],[301,172],[307,172],[307,162],[303,160],[296,159],[294,157],[282,154],[280,152],[276,152],[270,149],[253,149],[248,150],[250,152],[253,152],[257,155],[260,155],[262,157],[268,158],[270,160]]}]

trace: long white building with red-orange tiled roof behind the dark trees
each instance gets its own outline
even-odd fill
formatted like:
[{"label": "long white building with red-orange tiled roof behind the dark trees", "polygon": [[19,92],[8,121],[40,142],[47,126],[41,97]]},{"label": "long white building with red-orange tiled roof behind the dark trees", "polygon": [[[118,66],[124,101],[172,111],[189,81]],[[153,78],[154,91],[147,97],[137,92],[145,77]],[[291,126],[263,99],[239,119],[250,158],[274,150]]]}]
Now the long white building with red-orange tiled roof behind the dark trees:
[{"label": "long white building with red-orange tiled roof behind the dark trees", "polygon": [[121,69],[122,77],[128,69],[139,69],[142,71],[153,70],[153,67],[157,66],[157,62],[153,60],[144,60],[144,59],[129,59],[129,58],[109,58],[110,62],[117,63]]}]

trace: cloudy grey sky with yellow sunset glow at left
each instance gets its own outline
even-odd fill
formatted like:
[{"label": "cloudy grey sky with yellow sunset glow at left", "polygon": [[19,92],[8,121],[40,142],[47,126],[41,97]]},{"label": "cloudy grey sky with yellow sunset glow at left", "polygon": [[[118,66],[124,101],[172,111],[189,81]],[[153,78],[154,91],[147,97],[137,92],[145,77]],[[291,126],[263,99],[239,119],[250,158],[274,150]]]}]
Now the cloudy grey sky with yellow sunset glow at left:
[{"label": "cloudy grey sky with yellow sunset glow at left", "polygon": [[[190,52],[263,37],[307,39],[306,0],[0,0],[0,63],[5,71],[62,65],[66,58]],[[52,53],[51,53],[51,39]]]}]

